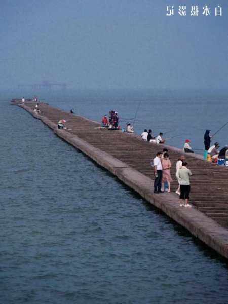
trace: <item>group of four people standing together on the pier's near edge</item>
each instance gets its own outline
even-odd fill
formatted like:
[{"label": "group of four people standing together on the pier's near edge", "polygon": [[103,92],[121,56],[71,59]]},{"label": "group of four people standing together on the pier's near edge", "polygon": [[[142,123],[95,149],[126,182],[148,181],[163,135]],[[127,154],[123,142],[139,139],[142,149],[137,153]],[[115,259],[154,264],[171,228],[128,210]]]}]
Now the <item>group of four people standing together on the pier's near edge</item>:
[{"label": "group of four people standing together on the pier's near edge", "polygon": [[[163,152],[158,152],[151,166],[154,167],[155,181],[154,181],[154,193],[164,193],[165,183],[168,184],[167,192],[170,192],[170,183],[173,181],[170,168],[172,167],[169,160],[168,150],[165,148]],[[181,207],[192,207],[189,203],[190,193],[190,180],[189,177],[192,172],[187,168],[187,162],[184,155],[181,155],[176,162],[176,178],[178,181],[178,188],[176,194],[179,195],[179,203]]]}]

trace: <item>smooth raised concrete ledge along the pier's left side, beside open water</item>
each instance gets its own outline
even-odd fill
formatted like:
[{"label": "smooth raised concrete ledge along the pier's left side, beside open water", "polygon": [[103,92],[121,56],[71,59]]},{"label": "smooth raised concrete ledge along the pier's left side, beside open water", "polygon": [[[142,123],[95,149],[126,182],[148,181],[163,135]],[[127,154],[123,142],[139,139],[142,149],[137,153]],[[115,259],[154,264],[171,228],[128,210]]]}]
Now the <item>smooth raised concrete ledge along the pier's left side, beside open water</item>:
[{"label": "smooth raised concrete ledge along the pier's left side, beside open water", "polygon": [[[108,153],[92,146],[67,130],[59,130],[57,125],[42,115],[35,114],[26,105],[20,105],[31,113],[35,118],[40,119],[54,132],[75,148],[80,149],[97,164],[109,170],[123,183],[128,185],[146,201],[161,209],[170,218],[185,227],[194,236],[199,238],[219,254],[228,258],[228,230],[220,226],[213,219],[210,219],[195,208],[179,207],[177,196],[174,193],[154,194],[153,180],[136,171],[126,163],[113,158]],[[168,146],[170,149],[173,147]]]}]

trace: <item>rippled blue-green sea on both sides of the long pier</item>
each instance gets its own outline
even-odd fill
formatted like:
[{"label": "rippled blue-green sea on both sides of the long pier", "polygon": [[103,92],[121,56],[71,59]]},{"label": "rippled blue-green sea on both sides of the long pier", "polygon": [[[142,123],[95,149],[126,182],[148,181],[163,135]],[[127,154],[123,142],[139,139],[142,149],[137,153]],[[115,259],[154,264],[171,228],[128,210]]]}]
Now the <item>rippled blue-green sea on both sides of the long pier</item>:
[{"label": "rippled blue-green sea on both sides of the long pier", "polygon": [[[227,120],[224,96],[40,95],[96,120],[109,109],[134,118],[139,105],[138,133],[149,127],[175,130],[169,136],[186,132],[197,148],[203,148],[206,128],[216,131]],[[228,302],[224,259],[42,122],[4,101],[12,97],[17,95],[0,95],[1,304]],[[226,134],[227,127],[216,141],[227,143]],[[183,139],[169,143],[181,147]]]}]

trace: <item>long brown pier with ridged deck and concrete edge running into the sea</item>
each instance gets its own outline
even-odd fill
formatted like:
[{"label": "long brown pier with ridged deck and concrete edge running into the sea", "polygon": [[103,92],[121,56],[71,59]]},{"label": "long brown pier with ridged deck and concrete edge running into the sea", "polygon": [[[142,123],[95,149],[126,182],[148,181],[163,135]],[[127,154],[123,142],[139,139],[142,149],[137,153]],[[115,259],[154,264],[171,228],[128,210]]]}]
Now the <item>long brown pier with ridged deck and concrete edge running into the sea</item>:
[{"label": "long brown pier with ridged deck and concrete edge running into the sea", "polygon": [[[35,118],[42,120],[65,141],[80,149],[100,166],[116,175],[145,200],[161,209],[194,236],[222,256],[228,258],[228,169],[202,160],[201,156],[186,155],[191,178],[191,200],[194,208],[179,207],[175,180],[175,164],[182,150],[147,143],[134,134],[100,129],[98,122],[66,113],[45,103],[39,103],[41,113],[35,114],[35,103],[13,99]],[[57,122],[67,121],[67,130],[59,130]],[[174,182],[171,193],[154,194],[154,173],[150,161],[164,147],[169,150]]]}]

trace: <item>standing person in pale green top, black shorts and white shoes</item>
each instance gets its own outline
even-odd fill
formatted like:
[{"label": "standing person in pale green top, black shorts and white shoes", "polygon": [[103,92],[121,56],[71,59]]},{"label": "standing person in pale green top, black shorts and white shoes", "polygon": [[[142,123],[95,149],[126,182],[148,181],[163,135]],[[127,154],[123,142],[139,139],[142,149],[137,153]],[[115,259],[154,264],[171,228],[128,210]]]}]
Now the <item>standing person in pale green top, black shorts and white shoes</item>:
[{"label": "standing person in pale green top, black shorts and white shoes", "polygon": [[180,181],[180,207],[192,207],[188,204],[191,189],[189,176],[192,175],[192,172],[186,166],[187,163],[183,162],[182,167],[178,170],[178,177]]}]

